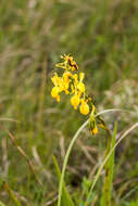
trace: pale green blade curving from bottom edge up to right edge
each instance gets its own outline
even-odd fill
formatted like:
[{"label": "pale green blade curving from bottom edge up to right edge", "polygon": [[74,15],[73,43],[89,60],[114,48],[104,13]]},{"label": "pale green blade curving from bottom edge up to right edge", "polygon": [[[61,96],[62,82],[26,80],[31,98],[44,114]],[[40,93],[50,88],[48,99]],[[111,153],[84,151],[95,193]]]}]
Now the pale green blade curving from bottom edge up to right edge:
[{"label": "pale green blade curving from bottom edge up to right edge", "polygon": [[89,190],[89,193],[88,193],[88,196],[87,196],[85,206],[88,206],[88,201],[89,201],[90,194],[91,194],[91,192],[92,192],[92,190],[93,190],[93,188],[95,188],[95,185],[96,185],[96,183],[97,183],[97,181],[98,181],[98,179],[99,179],[99,177],[100,177],[100,173],[101,173],[101,171],[102,171],[104,165],[106,164],[108,159],[110,158],[110,156],[111,156],[112,153],[114,152],[115,147],[120,144],[120,142],[121,142],[128,133],[130,133],[130,132],[131,132],[135,128],[137,128],[137,127],[138,127],[138,123],[136,123],[136,124],[133,125],[129,129],[127,129],[127,130],[121,136],[121,138],[118,139],[118,141],[115,143],[115,145],[112,147],[112,150],[110,151],[110,153],[108,154],[108,156],[106,156],[106,157],[104,158],[104,160],[102,162],[100,168],[99,168],[98,171],[97,171],[97,175],[96,175],[96,177],[95,177],[93,183],[92,183],[92,185],[91,185],[91,188],[90,188],[90,190]]}]

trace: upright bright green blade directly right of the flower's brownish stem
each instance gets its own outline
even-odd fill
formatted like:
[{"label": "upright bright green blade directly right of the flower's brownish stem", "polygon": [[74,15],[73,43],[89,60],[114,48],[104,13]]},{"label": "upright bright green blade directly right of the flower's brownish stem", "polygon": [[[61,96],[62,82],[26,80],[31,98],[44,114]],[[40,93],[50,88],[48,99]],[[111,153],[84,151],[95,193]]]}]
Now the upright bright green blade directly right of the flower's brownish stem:
[{"label": "upright bright green blade directly right of the flower's brownish stem", "polygon": [[[108,138],[106,155],[110,153],[111,149],[115,145],[116,132],[117,132],[117,124],[115,124],[114,126],[113,136]],[[114,152],[111,154],[109,160],[104,166],[105,177],[104,177],[103,192],[101,196],[101,206],[111,206],[113,167],[114,167]]]}]

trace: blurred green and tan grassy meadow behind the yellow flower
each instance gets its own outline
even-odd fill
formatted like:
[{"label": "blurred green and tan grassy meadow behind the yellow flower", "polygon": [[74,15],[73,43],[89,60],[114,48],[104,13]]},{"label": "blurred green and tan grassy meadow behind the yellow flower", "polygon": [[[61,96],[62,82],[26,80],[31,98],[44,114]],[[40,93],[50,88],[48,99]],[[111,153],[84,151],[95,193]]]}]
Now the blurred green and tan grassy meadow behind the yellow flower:
[{"label": "blurred green and tan grassy meadow behind the yellow flower", "polygon": [[[59,104],[50,96],[54,64],[64,53],[71,53],[86,73],[87,90],[99,110],[131,111],[130,115],[106,115],[111,129],[117,120],[122,133],[137,121],[137,0],[1,0],[0,199],[8,206],[14,203],[3,189],[3,181],[25,206],[55,205],[58,178],[52,155],[62,166],[71,138],[86,119],[72,110],[66,96]],[[43,188],[10,140],[8,130],[33,162]],[[83,177],[92,179],[103,156],[103,134],[100,131],[91,138],[86,128],[74,147],[66,175],[74,198],[79,199]],[[114,205],[138,205],[138,191],[123,201],[138,184],[137,138],[134,132],[117,147]]]}]

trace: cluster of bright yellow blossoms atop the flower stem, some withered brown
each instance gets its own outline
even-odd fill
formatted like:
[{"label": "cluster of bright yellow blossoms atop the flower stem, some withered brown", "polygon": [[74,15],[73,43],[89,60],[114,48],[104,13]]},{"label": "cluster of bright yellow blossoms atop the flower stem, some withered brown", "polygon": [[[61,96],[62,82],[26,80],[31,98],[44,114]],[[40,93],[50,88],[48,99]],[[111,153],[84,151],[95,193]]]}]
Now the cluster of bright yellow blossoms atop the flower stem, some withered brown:
[{"label": "cluster of bright yellow blossoms atop the flower stem, some withered brown", "polygon": [[79,107],[79,112],[83,115],[88,115],[91,112],[89,128],[91,133],[96,134],[98,132],[95,119],[96,107],[92,103],[92,99],[86,93],[86,86],[84,83],[85,74],[81,72],[78,73],[78,65],[70,54],[64,54],[61,59],[62,62],[55,64],[55,66],[63,68],[64,72],[61,77],[54,73],[51,78],[54,85],[51,90],[51,95],[60,102],[60,94],[64,92],[65,94],[71,95],[71,104],[74,110]]}]

